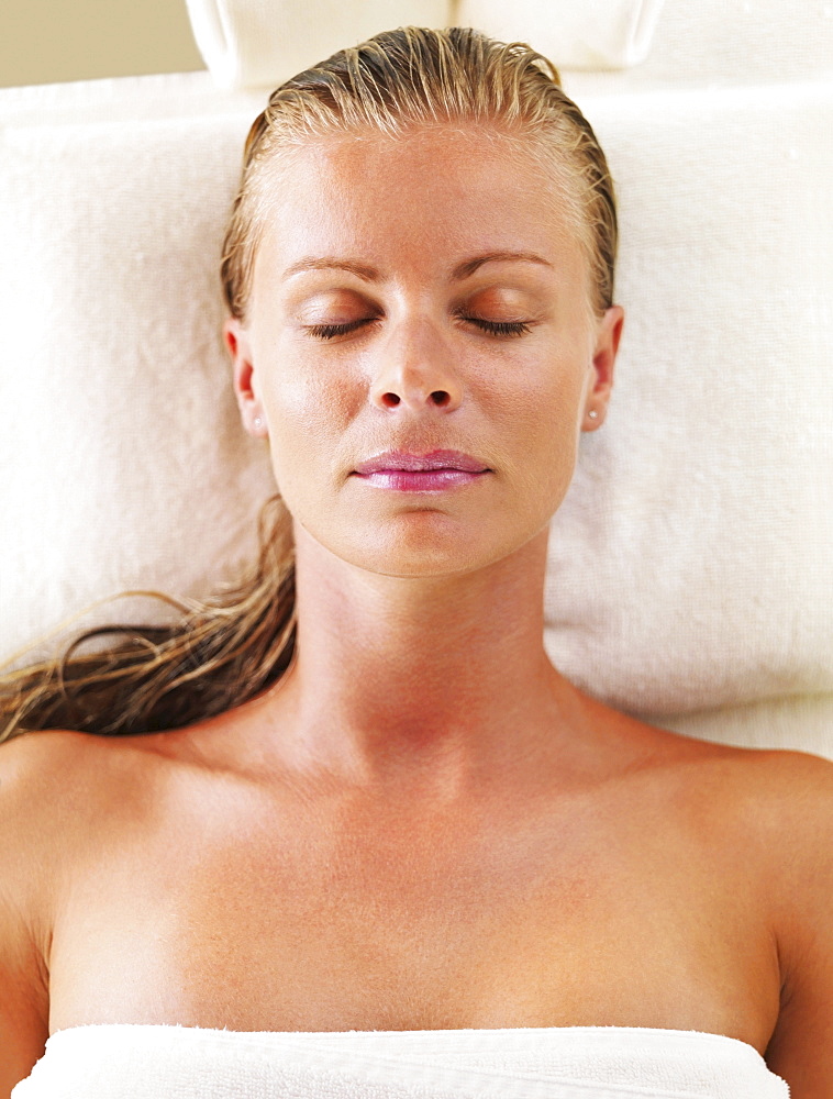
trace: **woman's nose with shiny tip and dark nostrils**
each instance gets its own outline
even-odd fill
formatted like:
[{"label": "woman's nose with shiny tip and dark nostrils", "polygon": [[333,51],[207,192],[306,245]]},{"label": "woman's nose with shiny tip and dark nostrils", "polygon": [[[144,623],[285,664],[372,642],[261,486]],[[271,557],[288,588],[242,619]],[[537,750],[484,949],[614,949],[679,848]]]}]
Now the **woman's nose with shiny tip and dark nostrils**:
[{"label": "woman's nose with shiny tip and dark nostrils", "polygon": [[451,411],[462,397],[446,340],[427,318],[402,319],[374,348],[370,400],[381,409],[425,406]]}]

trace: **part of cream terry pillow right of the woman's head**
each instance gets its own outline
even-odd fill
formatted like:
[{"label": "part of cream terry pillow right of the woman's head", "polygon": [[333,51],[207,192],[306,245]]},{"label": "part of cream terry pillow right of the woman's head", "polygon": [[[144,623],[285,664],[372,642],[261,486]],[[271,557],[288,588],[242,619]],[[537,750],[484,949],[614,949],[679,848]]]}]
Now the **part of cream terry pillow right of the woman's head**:
[{"label": "part of cream terry pillow right of the woman's head", "polygon": [[588,101],[626,320],[546,644],[646,717],[833,689],[833,86]]}]

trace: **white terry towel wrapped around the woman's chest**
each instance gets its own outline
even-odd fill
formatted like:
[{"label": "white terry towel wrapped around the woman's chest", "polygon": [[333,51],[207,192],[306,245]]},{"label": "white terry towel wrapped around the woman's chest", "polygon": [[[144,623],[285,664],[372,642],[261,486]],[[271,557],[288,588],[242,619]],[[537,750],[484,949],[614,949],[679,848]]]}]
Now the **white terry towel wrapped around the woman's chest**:
[{"label": "white terry towel wrapped around the woman's chest", "polygon": [[789,1099],[738,1039],[641,1026],[57,1031],[11,1099]]}]

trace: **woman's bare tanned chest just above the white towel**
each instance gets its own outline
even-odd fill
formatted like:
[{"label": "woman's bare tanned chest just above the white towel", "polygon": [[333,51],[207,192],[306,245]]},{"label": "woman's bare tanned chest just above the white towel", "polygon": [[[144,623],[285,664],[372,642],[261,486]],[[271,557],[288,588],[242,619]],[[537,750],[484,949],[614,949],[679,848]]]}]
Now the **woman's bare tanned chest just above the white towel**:
[{"label": "woman's bare tanned chest just above the white towel", "polygon": [[763,1051],[779,978],[758,882],[710,850],[635,801],[492,826],[207,804],[78,869],[51,1025],[637,1025]]}]

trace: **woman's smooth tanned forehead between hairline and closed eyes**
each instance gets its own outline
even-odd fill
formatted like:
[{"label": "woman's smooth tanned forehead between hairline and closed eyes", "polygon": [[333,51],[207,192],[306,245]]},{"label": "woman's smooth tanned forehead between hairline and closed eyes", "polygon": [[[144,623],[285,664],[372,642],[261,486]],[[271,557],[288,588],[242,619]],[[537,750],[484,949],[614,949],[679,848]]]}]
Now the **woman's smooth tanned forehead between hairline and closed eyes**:
[{"label": "woman's smooth tanned forehead between hairline and closed eyes", "polygon": [[478,251],[535,252],[573,277],[582,264],[569,174],[493,129],[338,135],[278,153],[265,167],[256,270],[340,252],[425,277]]}]

